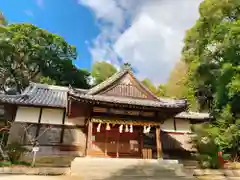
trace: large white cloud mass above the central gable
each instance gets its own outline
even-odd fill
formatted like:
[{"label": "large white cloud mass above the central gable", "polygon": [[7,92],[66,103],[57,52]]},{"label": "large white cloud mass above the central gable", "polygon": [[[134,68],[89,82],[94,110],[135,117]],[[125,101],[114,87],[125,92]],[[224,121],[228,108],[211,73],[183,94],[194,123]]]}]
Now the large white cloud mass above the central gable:
[{"label": "large white cloud mass above the central gable", "polygon": [[78,0],[96,15],[101,33],[90,43],[93,60],[137,69],[139,78],[166,82],[181,55],[185,31],[201,0]]}]

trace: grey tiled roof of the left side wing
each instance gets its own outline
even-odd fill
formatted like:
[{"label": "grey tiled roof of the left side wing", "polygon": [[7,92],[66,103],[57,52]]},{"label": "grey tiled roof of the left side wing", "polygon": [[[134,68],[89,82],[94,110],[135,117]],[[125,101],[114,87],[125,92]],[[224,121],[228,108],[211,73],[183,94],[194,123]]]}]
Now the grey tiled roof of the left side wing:
[{"label": "grey tiled roof of the left side wing", "polygon": [[65,108],[68,87],[32,83],[21,95],[0,95],[0,103]]}]

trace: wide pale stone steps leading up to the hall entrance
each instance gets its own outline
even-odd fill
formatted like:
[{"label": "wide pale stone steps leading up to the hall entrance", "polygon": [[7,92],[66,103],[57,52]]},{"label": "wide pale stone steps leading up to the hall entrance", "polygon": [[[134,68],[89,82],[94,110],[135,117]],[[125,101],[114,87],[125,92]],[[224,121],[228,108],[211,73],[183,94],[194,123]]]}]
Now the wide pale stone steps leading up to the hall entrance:
[{"label": "wide pale stone steps leading up to the hall entrance", "polygon": [[84,180],[195,180],[174,160],[76,158],[71,175]]}]

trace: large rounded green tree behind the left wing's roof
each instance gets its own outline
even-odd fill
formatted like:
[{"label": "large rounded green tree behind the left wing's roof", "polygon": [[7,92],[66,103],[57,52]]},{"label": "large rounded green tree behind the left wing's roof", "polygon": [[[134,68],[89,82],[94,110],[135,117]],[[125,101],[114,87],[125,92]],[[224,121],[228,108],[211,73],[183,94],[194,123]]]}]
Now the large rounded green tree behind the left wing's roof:
[{"label": "large rounded green tree behind the left wing's roof", "polygon": [[89,74],[72,64],[76,48],[60,36],[32,24],[11,24],[0,27],[0,49],[1,89],[21,92],[42,76],[57,85],[88,87]]}]

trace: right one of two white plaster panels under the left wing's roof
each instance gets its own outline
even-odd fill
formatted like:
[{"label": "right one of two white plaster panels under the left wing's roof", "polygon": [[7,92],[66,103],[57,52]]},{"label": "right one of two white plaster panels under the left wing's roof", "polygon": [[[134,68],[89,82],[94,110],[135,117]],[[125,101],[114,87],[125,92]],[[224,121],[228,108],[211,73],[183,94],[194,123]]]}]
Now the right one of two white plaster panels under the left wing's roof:
[{"label": "right one of two white plaster panels under the left wing's roof", "polygon": [[44,124],[62,124],[63,109],[43,108],[41,123]]}]

